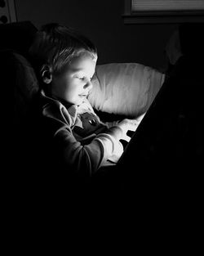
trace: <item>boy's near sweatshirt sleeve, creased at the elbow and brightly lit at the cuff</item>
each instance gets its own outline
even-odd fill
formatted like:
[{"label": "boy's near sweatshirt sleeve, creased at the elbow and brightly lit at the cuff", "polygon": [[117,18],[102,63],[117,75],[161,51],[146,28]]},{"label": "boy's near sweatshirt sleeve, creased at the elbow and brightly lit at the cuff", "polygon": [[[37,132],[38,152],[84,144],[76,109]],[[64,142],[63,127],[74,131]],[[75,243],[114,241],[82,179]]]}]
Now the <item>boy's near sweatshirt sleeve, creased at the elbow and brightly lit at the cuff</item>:
[{"label": "boy's near sweatshirt sleeve, creased at the elbow and brightly lit at the cuff", "polygon": [[69,127],[64,126],[55,132],[54,139],[66,166],[79,176],[92,176],[107,160],[117,163],[123,152],[122,144],[106,133],[82,145]]}]

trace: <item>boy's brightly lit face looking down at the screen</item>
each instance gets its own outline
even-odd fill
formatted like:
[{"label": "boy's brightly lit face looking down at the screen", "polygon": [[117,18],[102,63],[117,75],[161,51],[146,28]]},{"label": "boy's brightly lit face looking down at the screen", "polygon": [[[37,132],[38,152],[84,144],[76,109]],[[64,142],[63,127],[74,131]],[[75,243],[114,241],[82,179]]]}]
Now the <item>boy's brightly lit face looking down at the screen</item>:
[{"label": "boy's brightly lit face looking down at the screen", "polygon": [[70,104],[80,105],[92,88],[96,61],[90,55],[78,56],[64,69],[62,74],[53,74],[51,94]]}]

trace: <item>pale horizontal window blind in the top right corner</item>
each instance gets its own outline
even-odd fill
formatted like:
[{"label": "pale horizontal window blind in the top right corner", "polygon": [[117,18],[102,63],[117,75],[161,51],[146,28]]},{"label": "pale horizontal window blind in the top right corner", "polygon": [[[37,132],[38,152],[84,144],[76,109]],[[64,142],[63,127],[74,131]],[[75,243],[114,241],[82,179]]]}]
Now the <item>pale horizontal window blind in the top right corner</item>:
[{"label": "pale horizontal window blind in the top right corner", "polygon": [[202,11],[204,0],[131,0],[131,11]]}]

